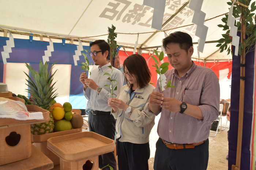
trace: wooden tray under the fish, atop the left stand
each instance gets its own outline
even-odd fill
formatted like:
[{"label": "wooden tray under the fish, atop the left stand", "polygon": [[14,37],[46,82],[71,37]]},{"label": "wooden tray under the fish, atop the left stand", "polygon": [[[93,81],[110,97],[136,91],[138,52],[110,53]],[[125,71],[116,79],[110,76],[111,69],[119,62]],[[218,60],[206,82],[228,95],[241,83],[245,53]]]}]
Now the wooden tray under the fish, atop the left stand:
[{"label": "wooden tray under the fish, atop the left stand", "polygon": [[11,118],[0,118],[0,128],[7,128],[11,126],[18,126],[18,125],[25,125],[25,124],[35,124],[35,123],[43,123],[50,120],[49,111],[45,110],[41,107],[36,105],[26,105],[27,110],[29,112],[42,112],[44,119],[41,120],[16,120]]}]

